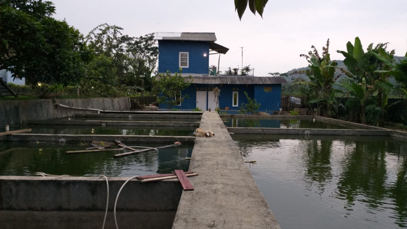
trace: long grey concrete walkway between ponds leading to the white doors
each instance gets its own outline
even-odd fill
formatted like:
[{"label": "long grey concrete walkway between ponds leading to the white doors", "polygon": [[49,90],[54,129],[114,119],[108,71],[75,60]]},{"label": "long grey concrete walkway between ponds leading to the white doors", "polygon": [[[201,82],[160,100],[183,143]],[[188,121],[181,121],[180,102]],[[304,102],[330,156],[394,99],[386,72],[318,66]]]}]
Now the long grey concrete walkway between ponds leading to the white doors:
[{"label": "long grey concrete walkway between ponds leading to the white doors", "polygon": [[216,112],[204,112],[190,171],[194,191],[182,192],[173,229],[280,228],[250,171]]}]

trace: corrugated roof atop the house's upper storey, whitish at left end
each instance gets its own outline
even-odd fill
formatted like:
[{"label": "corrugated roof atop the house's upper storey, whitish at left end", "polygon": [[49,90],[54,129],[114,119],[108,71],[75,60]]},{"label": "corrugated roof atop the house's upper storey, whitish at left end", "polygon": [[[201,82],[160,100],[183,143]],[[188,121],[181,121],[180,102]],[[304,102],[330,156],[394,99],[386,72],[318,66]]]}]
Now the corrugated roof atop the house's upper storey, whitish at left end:
[{"label": "corrugated roof atop the house's upper storey, whitish at left end", "polygon": [[215,33],[165,33],[157,32],[156,40],[195,40],[195,41],[216,41]]}]

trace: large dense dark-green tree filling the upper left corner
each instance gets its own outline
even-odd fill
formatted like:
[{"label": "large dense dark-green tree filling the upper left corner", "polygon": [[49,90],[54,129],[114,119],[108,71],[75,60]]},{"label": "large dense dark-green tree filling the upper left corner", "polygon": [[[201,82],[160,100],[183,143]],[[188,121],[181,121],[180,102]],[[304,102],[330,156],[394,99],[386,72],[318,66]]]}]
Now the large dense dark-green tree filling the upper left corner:
[{"label": "large dense dark-green tree filling the upper left corner", "polygon": [[41,0],[2,0],[0,69],[36,85],[68,85],[85,72],[89,50],[82,34],[51,17],[55,8]]}]

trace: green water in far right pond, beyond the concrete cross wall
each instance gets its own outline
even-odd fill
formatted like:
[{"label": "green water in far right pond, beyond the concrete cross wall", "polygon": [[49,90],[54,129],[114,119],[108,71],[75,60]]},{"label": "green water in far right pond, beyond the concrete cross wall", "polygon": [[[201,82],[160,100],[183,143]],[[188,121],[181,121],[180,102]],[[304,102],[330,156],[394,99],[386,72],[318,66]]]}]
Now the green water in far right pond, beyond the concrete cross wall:
[{"label": "green water in far right pond, beyond the concrete cross wall", "polygon": [[350,129],[348,127],[313,119],[259,119],[259,118],[222,118],[226,127],[243,128],[295,128],[295,129]]}]

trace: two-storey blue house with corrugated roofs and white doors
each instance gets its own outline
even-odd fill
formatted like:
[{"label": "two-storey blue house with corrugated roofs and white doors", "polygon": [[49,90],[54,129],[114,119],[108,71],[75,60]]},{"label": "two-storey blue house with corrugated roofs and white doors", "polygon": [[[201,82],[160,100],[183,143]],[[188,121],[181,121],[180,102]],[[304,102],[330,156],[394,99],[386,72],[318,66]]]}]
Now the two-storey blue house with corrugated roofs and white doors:
[{"label": "two-storey blue house with corrugated roofs and white doors", "polygon": [[[228,52],[228,48],[215,43],[215,33],[156,33],[158,40],[158,72],[179,72],[192,82],[181,94],[189,98],[176,106],[180,110],[200,108],[203,111],[218,106],[220,110],[239,110],[242,102],[247,103],[245,92],[261,103],[259,111],[278,111],[281,108],[282,77],[209,75],[209,54]],[[210,53],[211,51],[211,53]],[[187,76],[192,76],[191,78]],[[218,103],[214,90],[218,93]],[[160,109],[168,105],[159,104]]]}]

